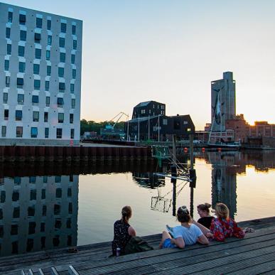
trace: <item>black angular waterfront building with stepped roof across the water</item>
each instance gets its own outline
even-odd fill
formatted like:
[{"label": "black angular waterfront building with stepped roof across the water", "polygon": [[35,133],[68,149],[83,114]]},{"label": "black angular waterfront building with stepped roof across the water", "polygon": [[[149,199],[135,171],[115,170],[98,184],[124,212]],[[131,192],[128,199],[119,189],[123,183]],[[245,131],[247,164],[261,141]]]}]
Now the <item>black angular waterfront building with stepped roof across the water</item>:
[{"label": "black angular waterfront building with stepped roof across the water", "polygon": [[129,137],[135,141],[171,141],[173,135],[176,135],[178,140],[184,140],[189,139],[189,134],[195,132],[189,114],[169,117],[166,115],[165,104],[155,101],[136,105],[132,119],[125,124],[125,127],[128,126]]}]

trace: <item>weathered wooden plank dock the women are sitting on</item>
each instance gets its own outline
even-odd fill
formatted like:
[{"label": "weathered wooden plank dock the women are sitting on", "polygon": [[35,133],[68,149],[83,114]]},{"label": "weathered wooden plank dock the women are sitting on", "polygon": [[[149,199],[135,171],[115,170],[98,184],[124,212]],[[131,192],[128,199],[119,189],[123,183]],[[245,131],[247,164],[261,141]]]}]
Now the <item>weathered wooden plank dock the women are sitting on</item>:
[{"label": "weathered wooden plank dock the women are sitting on", "polygon": [[[239,222],[255,231],[244,239],[212,241],[185,249],[158,249],[161,234],[146,236],[154,250],[109,257],[110,242],[78,247],[78,252],[55,249],[0,258],[1,274],[69,274],[69,265],[86,274],[275,274],[275,217]],[[4,247],[2,247],[4,248]],[[41,269],[39,271],[38,269]],[[43,273],[41,273],[43,272]],[[73,274],[73,273],[70,273]]]}]

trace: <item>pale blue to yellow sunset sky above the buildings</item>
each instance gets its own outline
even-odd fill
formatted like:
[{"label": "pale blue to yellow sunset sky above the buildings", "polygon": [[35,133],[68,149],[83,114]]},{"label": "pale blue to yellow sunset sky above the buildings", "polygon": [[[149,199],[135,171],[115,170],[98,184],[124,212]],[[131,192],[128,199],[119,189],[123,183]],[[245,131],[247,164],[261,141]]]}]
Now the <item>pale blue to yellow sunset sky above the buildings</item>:
[{"label": "pale blue to yellow sunset sky above the buildings", "polygon": [[82,119],[131,116],[156,100],[203,129],[210,82],[232,71],[237,114],[275,124],[273,0],[4,2],[83,21]]}]

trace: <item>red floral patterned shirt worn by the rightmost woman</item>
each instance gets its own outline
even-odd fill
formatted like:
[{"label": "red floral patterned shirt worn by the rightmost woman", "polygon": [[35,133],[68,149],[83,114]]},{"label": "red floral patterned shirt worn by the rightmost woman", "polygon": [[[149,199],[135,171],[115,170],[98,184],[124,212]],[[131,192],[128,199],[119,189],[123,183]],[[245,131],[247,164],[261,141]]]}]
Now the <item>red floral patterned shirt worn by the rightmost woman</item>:
[{"label": "red floral patterned shirt worn by the rightmost woman", "polygon": [[227,237],[237,237],[239,239],[244,237],[244,232],[231,217],[228,219],[216,217],[211,222],[210,231],[213,233],[213,238],[219,242],[225,242]]}]

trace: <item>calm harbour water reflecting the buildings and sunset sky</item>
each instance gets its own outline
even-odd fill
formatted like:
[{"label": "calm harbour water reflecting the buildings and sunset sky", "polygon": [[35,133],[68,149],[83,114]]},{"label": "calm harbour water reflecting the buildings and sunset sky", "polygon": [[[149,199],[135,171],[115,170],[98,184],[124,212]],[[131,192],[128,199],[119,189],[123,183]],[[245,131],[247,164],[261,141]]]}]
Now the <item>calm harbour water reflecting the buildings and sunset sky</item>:
[{"label": "calm harbour water reflecting the buildings and sunset sky", "polygon": [[[188,163],[188,160],[185,161]],[[206,152],[195,157],[197,183],[153,177],[146,163],[76,168],[4,166],[0,176],[1,256],[112,239],[122,206],[131,205],[139,235],[177,225],[188,205],[226,203],[235,220],[274,216],[275,152]]]}]

